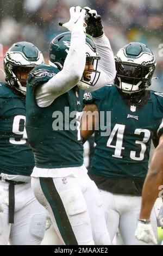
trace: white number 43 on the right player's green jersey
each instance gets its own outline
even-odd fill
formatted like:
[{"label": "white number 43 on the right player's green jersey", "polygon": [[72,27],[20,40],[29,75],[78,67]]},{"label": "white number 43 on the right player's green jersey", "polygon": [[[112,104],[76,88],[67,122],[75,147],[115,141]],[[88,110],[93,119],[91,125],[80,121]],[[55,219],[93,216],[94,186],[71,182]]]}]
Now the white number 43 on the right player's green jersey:
[{"label": "white number 43 on the right player's green jersey", "polygon": [[[124,135],[124,129],[125,125],[121,124],[116,124],[114,126],[114,129],[112,129],[108,142],[106,143],[106,146],[109,148],[115,148],[114,154],[112,155],[113,157],[117,158],[122,158],[122,150],[125,148],[122,147],[123,145],[123,135]],[[144,133],[144,137],[142,141],[135,141],[135,144],[140,144],[141,145],[141,151],[140,155],[136,156],[136,151],[131,150],[130,151],[130,158],[136,161],[142,161],[145,157],[145,151],[147,149],[147,146],[145,143],[149,141],[149,138],[151,136],[151,132],[147,129],[136,129],[134,134],[140,135],[140,133]],[[116,135],[116,138],[115,138]],[[111,142],[116,139],[115,145],[112,145]]]}]

